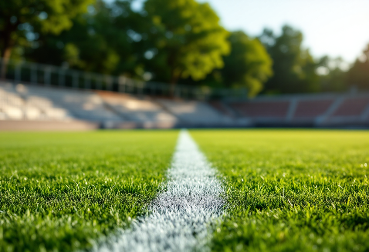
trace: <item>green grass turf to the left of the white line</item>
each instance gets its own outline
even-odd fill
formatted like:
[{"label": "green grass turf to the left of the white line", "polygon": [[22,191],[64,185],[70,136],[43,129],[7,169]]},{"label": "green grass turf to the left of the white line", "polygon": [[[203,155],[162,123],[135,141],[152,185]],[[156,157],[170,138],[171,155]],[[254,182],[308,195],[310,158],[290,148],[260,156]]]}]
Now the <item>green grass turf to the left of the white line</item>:
[{"label": "green grass turf to the left of the white line", "polygon": [[0,133],[0,251],[76,251],[142,213],[177,131]]}]

